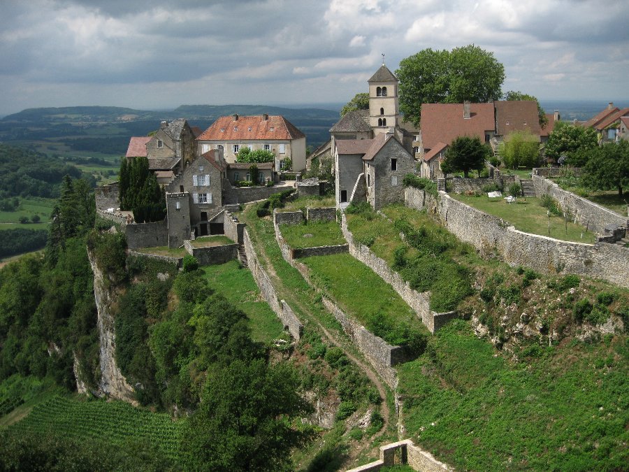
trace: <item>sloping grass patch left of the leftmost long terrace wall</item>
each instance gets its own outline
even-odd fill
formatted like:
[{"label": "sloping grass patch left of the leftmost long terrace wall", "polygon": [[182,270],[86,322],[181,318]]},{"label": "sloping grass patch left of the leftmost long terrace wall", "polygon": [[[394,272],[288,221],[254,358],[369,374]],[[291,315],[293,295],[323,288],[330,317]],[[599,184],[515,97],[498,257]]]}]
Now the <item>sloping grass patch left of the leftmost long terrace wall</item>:
[{"label": "sloping grass patch left of the leftmost long terrace wall", "polygon": [[241,269],[238,261],[203,266],[201,269],[212,289],[247,314],[256,341],[270,343],[282,337],[282,322],[262,298],[250,271]]}]

